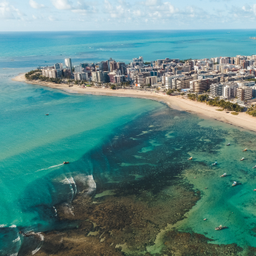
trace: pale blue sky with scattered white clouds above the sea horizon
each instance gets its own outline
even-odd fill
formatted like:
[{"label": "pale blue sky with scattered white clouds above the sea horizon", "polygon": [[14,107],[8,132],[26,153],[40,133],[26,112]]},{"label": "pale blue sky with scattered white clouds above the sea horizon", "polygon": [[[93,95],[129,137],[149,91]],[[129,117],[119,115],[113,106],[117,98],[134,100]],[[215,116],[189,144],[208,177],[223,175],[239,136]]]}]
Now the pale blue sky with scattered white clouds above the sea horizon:
[{"label": "pale blue sky with scattered white clouds above the sea horizon", "polygon": [[255,28],[247,0],[0,0],[0,31]]}]

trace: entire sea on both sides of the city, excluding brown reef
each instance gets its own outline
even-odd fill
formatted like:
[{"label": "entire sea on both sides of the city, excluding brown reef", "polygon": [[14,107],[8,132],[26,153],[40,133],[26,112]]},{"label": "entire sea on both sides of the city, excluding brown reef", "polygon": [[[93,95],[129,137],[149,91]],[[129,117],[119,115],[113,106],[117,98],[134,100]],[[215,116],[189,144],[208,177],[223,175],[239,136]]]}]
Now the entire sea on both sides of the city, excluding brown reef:
[{"label": "entire sea on both sides of the city, excluding brown reef", "polygon": [[[132,236],[124,238],[130,242],[129,250],[123,248],[126,255],[160,253],[166,243],[164,238],[157,239],[157,234],[174,229],[202,234],[212,239],[210,244],[236,244],[244,250],[256,247],[254,133],[171,110],[162,102],[68,94],[11,80],[19,73],[63,62],[67,57],[78,64],[108,58],[130,62],[138,56],[151,61],[251,55],[255,54],[256,41],[250,36],[255,33],[256,30],[1,33],[0,255],[39,254],[43,242],[27,242],[22,236],[26,232],[47,234],[79,226],[78,219],[63,222],[58,218],[60,209],[68,205],[70,210],[79,193],[93,197],[94,204],[88,202],[85,209],[97,207],[98,203],[102,207],[104,203],[114,205],[117,198],[123,200],[123,205],[130,200],[129,207],[144,202],[139,209],[145,214],[145,209],[154,209],[154,220],[143,224],[152,225],[148,232],[152,238],[145,234],[145,242],[136,248],[132,246]],[[226,146],[228,142],[231,146]],[[242,152],[245,148],[248,151]],[[190,156],[194,157],[192,162],[187,161]],[[243,162],[242,157],[246,158]],[[66,161],[70,164],[63,165]],[[218,165],[212,166],[215,161]],[[227,177],[220,178],[224,173]],[[232,187],[234,181],[239,185]],[[178,196],[172,190],[174,186],[176,191],[186,187],[184,194],[201,194],[193,207],[184,202],[186,209],[175,212],[175,216],[182,212],[183,217],[177,219],[170,214],[178,207],[178,203],[174,204]],[[94,222],[100,222],[95,214],[88,216],[91,221],[94,218]],[[206,222],[202,221],[204,218]],[[221,224],[229,228],[215,231],[214,227]],[[108,232],[114,234],[113,230],[118,229],[111,225]],[[142,232],[138,226],[126,233]]]}]

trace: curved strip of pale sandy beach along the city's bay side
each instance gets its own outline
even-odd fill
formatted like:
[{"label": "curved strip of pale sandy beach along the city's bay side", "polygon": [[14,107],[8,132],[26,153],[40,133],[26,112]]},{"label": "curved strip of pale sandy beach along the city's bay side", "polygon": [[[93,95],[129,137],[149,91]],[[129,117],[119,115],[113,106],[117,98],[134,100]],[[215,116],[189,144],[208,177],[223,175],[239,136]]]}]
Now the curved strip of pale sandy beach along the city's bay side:
[{"label": "curved strip of pale sandy beach along the city's bay side", "polygon": [[220,122],[226,122],[227,124],[237,126],[242,129],[256,132],[256,118],[246,113],[239,113],[233,115],[226,113],[226,111],[217,111],[218,107],[206,105],[204,102],[194,102],[182,96],[168,96],[162,93],[154,93],[154,91],[142,91],[142,90],[126,90],[118,89],[111,90],[105,88],[82,88],[79,86],[66,86],[63,84],[54,84],[51,82],[30,82],[27,81],[24,74],[18,74],[17,77],[12,78],[15,82],[26,82],[32,85],[46,86],[53,89],[65,91],[69,94],[87,94],[98,96],[116,96],[116,97],[130,97],[130,98],[146,98],[155,100],[158,102],[165,102],[168,106],[175,110],[188,111],[193,114],[197,114],[204,118],[210,118],[218,120]]}]

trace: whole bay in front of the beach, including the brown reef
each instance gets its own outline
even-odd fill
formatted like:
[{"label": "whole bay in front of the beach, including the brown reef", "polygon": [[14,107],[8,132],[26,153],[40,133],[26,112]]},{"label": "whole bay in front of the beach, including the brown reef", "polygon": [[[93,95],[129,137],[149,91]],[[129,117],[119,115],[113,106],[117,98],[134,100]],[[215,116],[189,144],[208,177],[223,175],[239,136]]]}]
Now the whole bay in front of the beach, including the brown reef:
[{"label": "whole bay in front of the beach, including the brown reef", "polygon": [[254,255],[254,133],[160,102],[29,88],[40,104],[24,94],[2,113],[0,255]]}]

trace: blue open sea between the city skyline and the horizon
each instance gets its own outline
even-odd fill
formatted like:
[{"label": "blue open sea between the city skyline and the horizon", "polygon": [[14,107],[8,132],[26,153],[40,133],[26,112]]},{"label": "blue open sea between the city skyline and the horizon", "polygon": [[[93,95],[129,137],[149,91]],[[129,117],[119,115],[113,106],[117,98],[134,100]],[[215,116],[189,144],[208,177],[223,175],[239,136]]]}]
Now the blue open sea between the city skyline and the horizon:
[{"label": "blue open sea between the city skyline and the horizon", "polygon": [[[229,34],[227,32],[230,32]],[[255,54],[256,30],[158,30],[0,33],[0,67],[31,67],[64,62],[130,62],[143,56],[213,58]]]}]

